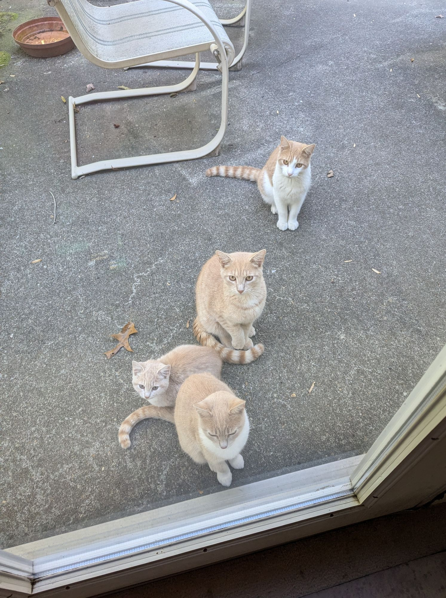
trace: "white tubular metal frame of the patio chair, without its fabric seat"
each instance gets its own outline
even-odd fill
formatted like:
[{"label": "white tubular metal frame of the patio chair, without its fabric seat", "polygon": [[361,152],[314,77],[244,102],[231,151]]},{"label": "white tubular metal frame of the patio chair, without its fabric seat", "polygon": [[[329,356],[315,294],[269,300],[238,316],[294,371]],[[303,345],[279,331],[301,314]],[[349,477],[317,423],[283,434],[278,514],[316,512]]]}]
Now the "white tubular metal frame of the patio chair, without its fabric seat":
[{"label": "white tubular metal frame of the patio chair, without its fabric seat", "polygon": [[[80,35],[77,32],[77,29],[74,26],[74,23],[69,17],[69,14],[65,10],[62,2],[59,0],[48,0],[48,4],[50,6],[56,7],[57,13],[59,13],[60,18],[62,19],[63,23],[65,24],[69,34],[71,35],[73,41],[77,45],[78,49],[81,53],[90,60],[90,62],[102,66],[103,68],[125,68],[130,66],[138,66],[143,63],[146,63],[150,59],[158,59],[158,58],[171,58],[175,56],[184,56],[187,53],[194,53],[195,54],[195,63],[191,63],[193,66],[193,71],[184,81],[181,83],[170,85],[170,86],[160,86],[160,87],[144,87],[141,89],[132,89],[132,90],[116,90],[116,91],[102,91],[97,93],[89,93],[84,96],[80,97],[69,97],[68,99],[68,111],[69,111],[69,129],[70,129],[70,149],[71,149],[71,176],[73,179],[77,179],[80,176],[88,175],[93,172],[98,172],[99,170],[117,170],[120,168],[127,168],[132,166],[146,166],[148,164],[160,164],[165,162],[178,162],[183,160],[195,160],[195,158],[202,158],[205,155],[212,154],[212,152],[218,151],[219,145],[223,139],[225,134],[226,126],[227,126],[227,117],[228,117],[228,68],[229,65],[233,62],[234,54],[233,53],[226,53],[225,47],[219,33],[206,19],[203,12],[200,11],[194,4],[189,2],[189,0],[166,0],[167,2],[172,2],[172,4],[176,4],[181,6],[182,8],[187,9],[191,13],[193,13],[201,22],[206,25],[207,29],[209,29],[210,33],[215,40],[215,44],[201,44],[194,47],[188,48],[179,48],[178,50],[172,50],[170,52],[166,52],[163,54],[156,54],[152,56],[143,56],[137,58],[129,58],[128,60],[120,60],[118,62],[106,62],[104,60],[98,59],[96,56],[91,54],[88,48],[85,46],[84,42],[82,41]],[[215,53],[215,56],[218,58],[219,63],[216,65],[221,71],[222,75],[222,92],[221,92],[221,123],[218,129],[218,132],[215,136],[211,139],[211,141],[207,142],[207,144],[196,148],[196,149],[184,149],[182,151],[173,151],[173,152],[164,152],[162,154],[151,154],[151,155],[140,155],[131,158],[117,158],[115,160],[100,160],[97,162],[93,162],[91,164],[84,164],[83,166],[78,166],[77,163],[77,149],[76,149],[76,130],[75,130],[75,106],[80,106],[81,104],[86,104],[90,102],[97,102],[99,100],[117,100],[123,99],[128,97],[141,97],[141,96],[154,96],[160,94],[169,94],[169,93],[179,93],[180,91],[185,91],[188,88],[193,90],[195,84],[195,78],[197,77],[198,69],[200,68],[200,52],[210,50]]]}]

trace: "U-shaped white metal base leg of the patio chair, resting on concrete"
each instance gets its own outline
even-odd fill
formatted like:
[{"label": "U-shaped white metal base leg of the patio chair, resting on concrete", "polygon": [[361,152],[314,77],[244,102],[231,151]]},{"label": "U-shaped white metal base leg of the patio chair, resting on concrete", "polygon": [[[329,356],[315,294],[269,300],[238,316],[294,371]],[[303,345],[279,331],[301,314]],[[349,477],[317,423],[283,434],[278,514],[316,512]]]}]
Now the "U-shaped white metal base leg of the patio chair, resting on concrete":
[{"label": "U-shaped white metal base leg of the patio chair, resting on concrete", "polygon": [[[75,106],[97,100],[113,100],[124,97],[154,96],[167,93],[178,93],[185,91],[195,82],[198,69],[200,68],[200,54],[195,54],[194,69],[184,81],[176,85],[166,87],[145,87],[142,89],[131,89],[123,91],[103,91],[92,93],[80,97],[69,97],[69,127],[70,127],[70,149],[71,149],[71,176],[77,179],[80,176],[88,175],[99,170],[117,170],[131,166],[146,166],[148,164],[161,164],[166,162],[179,162],[183,160],[195,160],[202,158],[212,152],[218,151],[227,126],[228,115],[228,61],[226,55],[222,56],[221,75],[222,75],[222,97],[221,97],[221,123],[216,135],[207,142],[207,144],[197,149],[184,149],[176,152],[165,152],[163,154],[140,155],[132,158],[117,158],[116,160],[101,160],[91,164],[78,166],[76,151],[76,131],[75,131]],[[218,154],[217,154],[218,155]]]}]

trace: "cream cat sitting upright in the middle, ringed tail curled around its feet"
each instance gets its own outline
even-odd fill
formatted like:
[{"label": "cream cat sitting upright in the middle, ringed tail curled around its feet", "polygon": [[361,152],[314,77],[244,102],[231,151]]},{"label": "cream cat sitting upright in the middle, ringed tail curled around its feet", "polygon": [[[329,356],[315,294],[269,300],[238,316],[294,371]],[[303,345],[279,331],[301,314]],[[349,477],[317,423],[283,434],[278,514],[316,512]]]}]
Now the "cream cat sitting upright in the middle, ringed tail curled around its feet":
[{"label": "cream cat sitting upright in the middle, ringed tail curled around its feet", "polygon": [[240,364],[254,361],[264,351],[262,344],[253,346],[251,337],[267,297],[265,253],[266,249],[254,254],[216,251],[198,274],[194,334],[203,345],[218,345],[215,335],[224,346],[234,347]]}]

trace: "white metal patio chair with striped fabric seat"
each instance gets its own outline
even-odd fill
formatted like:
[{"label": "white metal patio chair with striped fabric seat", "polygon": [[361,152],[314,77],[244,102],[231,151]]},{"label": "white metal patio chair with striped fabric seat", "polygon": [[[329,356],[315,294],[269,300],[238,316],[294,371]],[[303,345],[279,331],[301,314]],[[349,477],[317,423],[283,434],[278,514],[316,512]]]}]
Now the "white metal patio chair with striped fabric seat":
[{"label": "white metal patio chair with striped fabric seat", "polygon": [[[99,170],[145,164],[193,160],[215,151],[224,136],[228,111],[228,66],[234,47],[207,0],[139,0],[111,7],[97,7],[87,0],[47,0],[56,7],[81,53],[103,68],[125,68],[144,63],[195,54],[193,71],[184,81],[166,87],[103,91],[69,97],[71,176],[77,179]],[[216,135],[197,149],[102,160],[78,166],[75,135],[75,106],[97,100],[153,96],[195,89],[200,52],[211,50],[222,75],[221,123]]]}]

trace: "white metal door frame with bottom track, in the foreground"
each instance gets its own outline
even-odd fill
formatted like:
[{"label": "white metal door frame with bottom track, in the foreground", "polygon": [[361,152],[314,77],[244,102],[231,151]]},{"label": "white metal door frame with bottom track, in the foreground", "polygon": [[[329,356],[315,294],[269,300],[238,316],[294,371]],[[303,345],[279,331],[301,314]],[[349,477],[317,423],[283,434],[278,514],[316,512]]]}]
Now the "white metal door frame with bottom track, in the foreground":
[{"label": "white metal door frame with bottom track, in the foreground", "polygon": [[88,597],[413,508],[446,489],[446,347],[371,449],[0,551],[0,597]]}]

